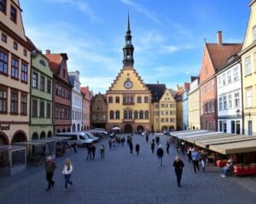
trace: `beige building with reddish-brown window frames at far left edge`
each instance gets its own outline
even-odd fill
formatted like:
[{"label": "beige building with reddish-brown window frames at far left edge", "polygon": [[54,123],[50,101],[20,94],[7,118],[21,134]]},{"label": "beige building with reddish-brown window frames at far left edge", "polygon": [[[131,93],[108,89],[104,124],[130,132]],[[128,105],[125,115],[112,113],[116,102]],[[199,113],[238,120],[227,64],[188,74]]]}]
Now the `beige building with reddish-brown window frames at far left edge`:
[{"label": "beige building with reddish-brown window frames at far left edge", "polygon": [[0,144],[29,137],[31,51],[19,0],[0,1]]}]

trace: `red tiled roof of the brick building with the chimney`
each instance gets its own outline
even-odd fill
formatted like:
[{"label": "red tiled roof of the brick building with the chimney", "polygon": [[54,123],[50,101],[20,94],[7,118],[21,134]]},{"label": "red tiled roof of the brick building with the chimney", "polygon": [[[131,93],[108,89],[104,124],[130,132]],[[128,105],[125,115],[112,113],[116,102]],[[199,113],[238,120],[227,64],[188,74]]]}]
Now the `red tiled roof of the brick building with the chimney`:
[{"label": "red tiled roof of the brick building with the chimney", "polygon": [[241,43],[223,43],[218,45],[218,43],[207,43],[207,50],[212,59],[212,65],[215,70],[223,67],[225,61],[230,58],[230,56],[237,54],[241,50]]}]

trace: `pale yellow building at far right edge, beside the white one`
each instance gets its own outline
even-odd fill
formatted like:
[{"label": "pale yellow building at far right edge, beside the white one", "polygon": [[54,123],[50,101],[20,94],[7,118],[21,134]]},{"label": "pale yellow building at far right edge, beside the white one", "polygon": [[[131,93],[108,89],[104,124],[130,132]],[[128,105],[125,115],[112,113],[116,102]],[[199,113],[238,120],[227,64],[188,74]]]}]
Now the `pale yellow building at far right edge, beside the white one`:
[{"label": "pale yellow building at far right edge, beside the white one", "polygon": [[256,1],[249,6],[251,13],[241,49],[244,133],[256,135]]}]

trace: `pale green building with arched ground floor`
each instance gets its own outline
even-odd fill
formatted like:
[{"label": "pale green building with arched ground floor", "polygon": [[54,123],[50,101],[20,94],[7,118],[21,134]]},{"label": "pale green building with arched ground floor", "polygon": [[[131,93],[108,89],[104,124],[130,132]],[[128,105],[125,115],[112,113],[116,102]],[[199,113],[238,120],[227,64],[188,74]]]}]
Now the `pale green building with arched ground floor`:
[{"label": "pale green building with arched ground floor", "polygon": [[52,84],[53,74],[49,69],[48,59],[39,51],[33,51],[30,139],[43,139],[54,136]]}]

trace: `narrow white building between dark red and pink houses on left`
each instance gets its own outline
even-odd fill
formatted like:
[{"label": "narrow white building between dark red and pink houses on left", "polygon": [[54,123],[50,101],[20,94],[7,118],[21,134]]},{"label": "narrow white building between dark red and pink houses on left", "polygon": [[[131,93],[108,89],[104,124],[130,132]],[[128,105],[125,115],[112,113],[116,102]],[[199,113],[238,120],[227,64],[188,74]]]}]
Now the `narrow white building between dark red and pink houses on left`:
[{"label": "narrow white building between dark red and pink houses on left", "polygon": [[73,85],[72,89],[72,127],[71,131],[81,131],[82,112],[83,112],[83,95],[80,91],[79,71],[68,72],[68,80]]}]

